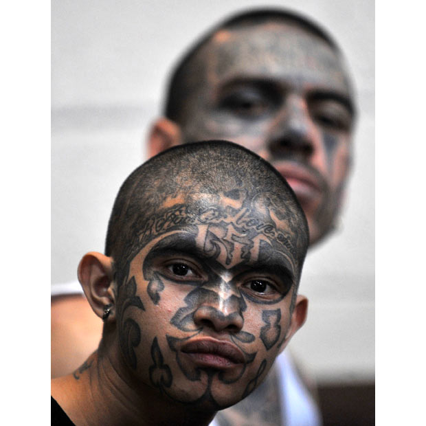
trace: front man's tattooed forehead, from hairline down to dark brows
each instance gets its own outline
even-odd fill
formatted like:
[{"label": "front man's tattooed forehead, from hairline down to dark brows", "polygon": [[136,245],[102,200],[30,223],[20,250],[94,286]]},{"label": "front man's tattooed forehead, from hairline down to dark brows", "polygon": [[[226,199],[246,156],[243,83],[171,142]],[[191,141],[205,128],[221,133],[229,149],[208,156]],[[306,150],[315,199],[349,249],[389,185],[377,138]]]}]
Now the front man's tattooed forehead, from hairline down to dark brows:
[{"label": "front man's tattooed forehead, from hairline down to dark brows", "polygon": [[156,214],[148,218],[143,216],[142,223],[135,224],[132,256],[150,240],[162,234],[174,230],[198,233],[201,225],[208,225],[205,229],[209,231],[211,227],[214,234],[223,238],[232,247],[245,247],[239,248],[243,250],[240,251],[243,257],[253,247],[254,239],[263,236],[274,249],[288,252],[291,261],[298,263],[300,253],[298,253],[297,221],[291,212],[287,215],[282,215],[281,212],[279,217],[273,208],[268,208],[259,200],[252,199],[251,203],[245,203],[242,200],[232,199],[233,193],[228,195],[228,198],[221,197],[216,201],[216,197],[212,197],[211,194],[199,194],[198,197],[194,197],[192,203],[172,204],[171,200],[167,199]]}]

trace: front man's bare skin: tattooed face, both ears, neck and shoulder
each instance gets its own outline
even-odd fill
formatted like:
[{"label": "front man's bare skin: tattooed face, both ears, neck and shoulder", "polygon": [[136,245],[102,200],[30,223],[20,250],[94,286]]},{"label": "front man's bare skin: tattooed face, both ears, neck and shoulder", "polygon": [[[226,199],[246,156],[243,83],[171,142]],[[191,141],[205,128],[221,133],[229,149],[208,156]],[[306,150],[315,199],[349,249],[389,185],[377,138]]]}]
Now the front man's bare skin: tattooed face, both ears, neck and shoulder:
[{"label": "front man's bare skin: tattooed face, both ears, neck and shoulder", "polygon": [[80,262],[91,306],[102,315],[111,304],[112,313],[98,352],[52,381],[52,395],[76,425],[161,425],[170,418],[180,425],[188,415],[190,424],[207,425],[260,384],[304,323],[293,213],[280,219],[282,208],[223,194],[197,194],[191,202],[170,226],[163,218],[185,203],[166,201],[126,251],[120,273],[101,254]]}]

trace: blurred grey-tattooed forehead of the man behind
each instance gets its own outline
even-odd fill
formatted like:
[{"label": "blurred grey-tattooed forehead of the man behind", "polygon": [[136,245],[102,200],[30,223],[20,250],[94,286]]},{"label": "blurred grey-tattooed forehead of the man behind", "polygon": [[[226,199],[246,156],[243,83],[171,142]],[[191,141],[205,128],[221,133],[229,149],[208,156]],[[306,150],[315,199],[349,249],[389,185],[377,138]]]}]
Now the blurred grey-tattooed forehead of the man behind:
[{"label": "blurred grey-tattooed forehead of the man behind", "polygon": [[[247,42],[249,41],[249,42]],[[349,90],[341,59],[330,45],[300,27],[267,23],[256,27],[221,30],[208,48],[208,75],[227,80],[240,75]]]}]

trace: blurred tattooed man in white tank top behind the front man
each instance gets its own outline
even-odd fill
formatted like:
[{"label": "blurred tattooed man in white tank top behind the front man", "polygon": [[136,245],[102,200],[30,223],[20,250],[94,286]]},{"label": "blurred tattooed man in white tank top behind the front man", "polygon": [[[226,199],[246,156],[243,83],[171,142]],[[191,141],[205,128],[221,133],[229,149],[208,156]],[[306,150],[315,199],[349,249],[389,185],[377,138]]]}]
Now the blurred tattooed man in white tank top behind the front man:
[{"label": "blurred tattooed man in white tank top behind the front man", "polygon": [[[333,229],[341,207],[354,118],[348,74],[330,36],[296,14],[256,10],[215,27],[175,67],[148,155],[202,139],[228,139],[253,150],[293,188],[313,245]],[[66,293],[52,299],[54,377],[87,358],[102,328],[81,295]],[[216,420],[292,425],[298,418],[297,424],[320,424],[315,402],[285,352],[274,373],[251,401]]]}]

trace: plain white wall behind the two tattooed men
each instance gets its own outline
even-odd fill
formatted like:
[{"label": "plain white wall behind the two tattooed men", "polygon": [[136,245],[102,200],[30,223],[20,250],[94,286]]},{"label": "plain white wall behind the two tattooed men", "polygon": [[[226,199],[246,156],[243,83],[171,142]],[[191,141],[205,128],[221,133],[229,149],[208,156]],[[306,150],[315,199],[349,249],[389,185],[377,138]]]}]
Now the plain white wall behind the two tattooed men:
[{"label": "plain white wall behind the two tattooed men", "polygon": [[115,194],[145,159],[168,70],[210,25],[250,5],[322,23],[346,53],[359,121],[337,232],[306,260],[309,319],[291,344],[319,381],[374,377],[374,1],[53,0],[52,284],[103,251]]}]

